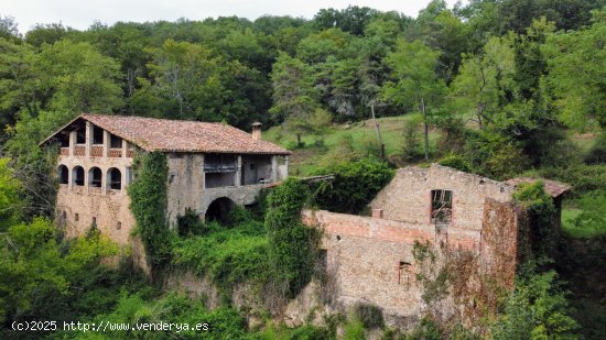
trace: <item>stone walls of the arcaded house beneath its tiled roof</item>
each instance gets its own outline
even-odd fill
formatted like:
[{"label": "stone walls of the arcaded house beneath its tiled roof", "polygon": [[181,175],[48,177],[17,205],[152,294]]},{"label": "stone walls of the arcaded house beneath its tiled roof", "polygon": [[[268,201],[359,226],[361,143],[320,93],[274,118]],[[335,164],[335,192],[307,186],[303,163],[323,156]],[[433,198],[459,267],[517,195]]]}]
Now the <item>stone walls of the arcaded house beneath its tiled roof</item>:
[{"label": "stone walls of the arcaded house beneath its tiled roof", "polygon": [[[85,234],[95,224],[118,244],[132,245],[136,240],[130,235],[136,221],[129,209],[127,187],[132,180],[134,149],[147,151],[82,118],[47,139],[51,140],[61,143],[56,216],[67,237]],[[268,142],[261,143],[268,147]],[[251,205],[264,186],[288,176],[286,154],[186,151],[164,154],[169,166],[165,212],[172,228],[187,209],[204,219],[217,200]],[[215,180],[213,186],[210,180]]]}]

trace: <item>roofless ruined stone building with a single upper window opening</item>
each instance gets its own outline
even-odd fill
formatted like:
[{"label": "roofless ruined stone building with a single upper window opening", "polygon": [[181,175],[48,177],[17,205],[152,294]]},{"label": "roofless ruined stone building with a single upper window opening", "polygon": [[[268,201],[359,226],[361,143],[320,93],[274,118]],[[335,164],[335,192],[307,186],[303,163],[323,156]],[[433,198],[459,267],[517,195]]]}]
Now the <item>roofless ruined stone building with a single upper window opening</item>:
[{"label": "roofless ruined stone building with a single upper window opening", "polygon": [[[519,183],[533,180],[497,182],[435,164],[410,166],[398,169],[371,201],[371,217],[304,211],[304,221],[323,230],[322,259],[329,277],[324,290],[331,290],[337,308],[376,305],[392,325],[405,328],[436,308],[428,301],[426,282],[437,285],[439,271],[454,266],[468,272],[459,273],[462,287],[445,287],[448,294],[437,312],[445,319],[473,315],[468,309],[477,307],[476,295],[486,290],[479,276],[512,285],[528,239],[527,215],[512,202],[512,193]],[[556,202],[567,189],[545,180]],[[435,261],[415,257],[415,246],[424,245]]]}]

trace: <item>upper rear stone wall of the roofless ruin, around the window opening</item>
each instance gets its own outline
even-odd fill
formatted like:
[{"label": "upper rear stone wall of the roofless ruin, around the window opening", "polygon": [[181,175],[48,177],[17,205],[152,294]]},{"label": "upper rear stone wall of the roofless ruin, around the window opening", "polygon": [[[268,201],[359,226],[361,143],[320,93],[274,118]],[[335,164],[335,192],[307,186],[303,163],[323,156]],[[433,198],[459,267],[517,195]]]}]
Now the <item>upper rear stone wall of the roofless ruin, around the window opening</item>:
[{"label": "upper rear stone wall of the roofless ruin, around the window opening", "polygon": [[431,190],[453,191],[453,218],[450,228],[480,230],[485,198],[509,201],[513,188],[505,183],[463,173],[450,167],[409,166],[396,176],[372,200],[371,208],[382,209],[390,220],[428,224]]}]

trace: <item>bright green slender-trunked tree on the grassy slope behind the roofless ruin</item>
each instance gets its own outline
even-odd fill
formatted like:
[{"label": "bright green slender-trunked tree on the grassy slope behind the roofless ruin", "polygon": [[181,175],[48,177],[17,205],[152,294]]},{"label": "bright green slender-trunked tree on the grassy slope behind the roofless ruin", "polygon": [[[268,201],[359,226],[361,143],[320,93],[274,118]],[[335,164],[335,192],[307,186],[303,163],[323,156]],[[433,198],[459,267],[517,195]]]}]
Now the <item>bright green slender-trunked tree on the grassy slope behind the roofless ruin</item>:
[{"label": "bright green slender-trunked tree on the grassy slope behind the roofless ruin", "polygon": [[396,51],[386,63],[391,67],[393,81],[383,85],[383,95],[401,105],[412,105],[423,116],[425,160],[430,158],[430,124],[437,114],[445,85],[435,73],[440,53],[420,41],[398,40]]}]

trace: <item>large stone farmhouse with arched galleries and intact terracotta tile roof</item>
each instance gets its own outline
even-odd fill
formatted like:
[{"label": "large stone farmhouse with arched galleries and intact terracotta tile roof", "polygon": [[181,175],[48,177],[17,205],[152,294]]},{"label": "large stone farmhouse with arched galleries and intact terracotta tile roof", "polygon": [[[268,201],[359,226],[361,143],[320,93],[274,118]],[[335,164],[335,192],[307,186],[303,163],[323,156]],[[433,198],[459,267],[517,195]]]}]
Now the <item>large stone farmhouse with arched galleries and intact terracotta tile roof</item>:
[{"label": "large stone farmhouse with arched galleries and intact terracotta tile roof", "polygon": [[250,205],[264,185],[288,175],[289,151],[221,123],[82,114],[48,136],[58,143],[57,218],[67,235],[96,224],[128,244],[134,219],[126,188],[137,152],[162,152],[169,165],[170,224],[186,209],[223,219],[232,204]]}]

